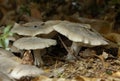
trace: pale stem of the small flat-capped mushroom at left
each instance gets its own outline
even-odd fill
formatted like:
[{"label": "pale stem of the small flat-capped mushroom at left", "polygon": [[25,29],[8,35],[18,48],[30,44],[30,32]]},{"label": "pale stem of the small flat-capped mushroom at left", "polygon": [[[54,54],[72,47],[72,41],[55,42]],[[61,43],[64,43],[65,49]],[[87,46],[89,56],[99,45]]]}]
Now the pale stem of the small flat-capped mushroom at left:
[{"label": "pale stem of the small flat-capped mushroom at left", "polygon": [[45,53],[46,53],[45,49],[36,49],[36,50],[33,50],[34,59],[35,59],[34,64],[35,65],[42,66],[44,64],[41,56],[44,55]]}]

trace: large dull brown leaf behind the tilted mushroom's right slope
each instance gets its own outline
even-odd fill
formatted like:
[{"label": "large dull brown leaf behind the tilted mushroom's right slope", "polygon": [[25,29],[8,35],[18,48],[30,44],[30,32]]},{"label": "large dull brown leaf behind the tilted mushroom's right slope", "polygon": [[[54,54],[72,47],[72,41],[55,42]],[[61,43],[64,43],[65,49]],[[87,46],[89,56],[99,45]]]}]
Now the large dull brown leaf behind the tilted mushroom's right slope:
[{"label": "large dull brown leaf behind the tilted mushroom's right slope", "polygon": [[85,24],[90,24],[91,27],[93,27],[95,30],[97,30],[99,33],[102,34],[107,34],[112,32],[112,25],[110,22],[105,21],[105,20],[97,20],[97,19],[88,19],[88,18],[82,18],[78,16],[73,16],[73,18],[79,22],[79,23],[85,23]]}]

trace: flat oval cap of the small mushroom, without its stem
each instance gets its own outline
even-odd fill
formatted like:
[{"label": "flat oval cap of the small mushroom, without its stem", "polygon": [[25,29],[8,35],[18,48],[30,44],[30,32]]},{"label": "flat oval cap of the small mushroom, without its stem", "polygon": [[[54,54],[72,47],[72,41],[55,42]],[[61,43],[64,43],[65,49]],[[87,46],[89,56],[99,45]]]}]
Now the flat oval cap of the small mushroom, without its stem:
[{"label": "flat oval cap of the small mushroom, without its stem", "polygon": [[43,49],[56,45],[56,40],[38,38],[38,37],[23,37],[13,43],[13,45],[19,49]]}]

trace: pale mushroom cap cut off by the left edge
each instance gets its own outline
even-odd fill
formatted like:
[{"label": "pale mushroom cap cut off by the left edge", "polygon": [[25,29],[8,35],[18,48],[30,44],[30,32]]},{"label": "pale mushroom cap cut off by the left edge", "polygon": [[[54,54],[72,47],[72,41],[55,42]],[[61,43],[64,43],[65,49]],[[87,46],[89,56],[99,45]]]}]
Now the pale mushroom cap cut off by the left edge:
[{"label": "pale mushroom cap cut off by the left edge", "polygon": [[21,63],[21,59],[12,52],[0,48],[0,71],[9,74],[11,70]]}]

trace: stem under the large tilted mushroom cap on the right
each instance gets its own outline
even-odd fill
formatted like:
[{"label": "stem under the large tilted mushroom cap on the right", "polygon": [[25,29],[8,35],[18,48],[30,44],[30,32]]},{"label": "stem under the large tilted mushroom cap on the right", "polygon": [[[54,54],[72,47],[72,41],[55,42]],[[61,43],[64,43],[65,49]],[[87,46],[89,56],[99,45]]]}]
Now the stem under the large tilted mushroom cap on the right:
[{"label": "stem under the large tilted mushroom cap on the right", "polygon": [[66,60],[68,61],[75,60],[80,49],[81,49],[81,46],[79,46],[76,42],[73,42],[70,47],[70,52],[67,54]]}]

